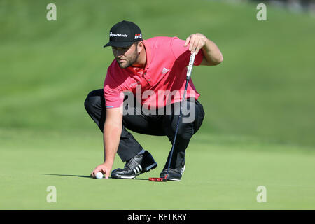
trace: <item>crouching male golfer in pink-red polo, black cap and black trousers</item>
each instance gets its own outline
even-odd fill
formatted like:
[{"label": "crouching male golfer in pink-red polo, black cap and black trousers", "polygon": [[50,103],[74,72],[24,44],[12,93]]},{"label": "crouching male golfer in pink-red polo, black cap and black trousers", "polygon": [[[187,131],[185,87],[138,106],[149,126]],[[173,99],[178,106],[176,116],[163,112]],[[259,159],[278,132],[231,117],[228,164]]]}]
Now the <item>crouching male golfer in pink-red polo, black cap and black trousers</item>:
[{"label": "crouching male golfer in pink-red polo, black cap and black trousers", "polygon": [[[125,20],[111,28],[107,46],[111,46],[115,59],[107,70],[104,89],[90,92],[85,99],[87,113],[104,133],[104,163],[91,176],[102,172],[106,179],[110,173],[112,178],[134,179],[158,164],[127,129],[167,136],[173,142],[191,52],[197,53],[196,66],[220,64],[223,56],[203,34],[191,34],[186,41],[165,36],[144,40],[139,27]],[[190,79],[183,106],[188,113],[183,109],[169,181],[181,180],[186,148],[202,125],[204,109],[197,100],[199,96]],[[116,153],[126,162],[125,167],[111,172]],[[167,174],[169,158],[161,178]]]}]

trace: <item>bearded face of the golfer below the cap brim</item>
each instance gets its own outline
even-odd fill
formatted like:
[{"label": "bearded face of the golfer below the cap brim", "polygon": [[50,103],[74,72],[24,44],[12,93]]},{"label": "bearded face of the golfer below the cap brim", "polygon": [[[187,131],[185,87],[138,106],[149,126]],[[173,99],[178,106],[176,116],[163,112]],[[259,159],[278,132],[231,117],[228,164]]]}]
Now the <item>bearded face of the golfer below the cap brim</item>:
[{"label": "bearded face of the golfer below the cap brim", "polygon": [[120,68],[125,69],[137,62],[139,57],[137,45],[138,43],[133,43],[126,48],[112,47],[113,55]]}]

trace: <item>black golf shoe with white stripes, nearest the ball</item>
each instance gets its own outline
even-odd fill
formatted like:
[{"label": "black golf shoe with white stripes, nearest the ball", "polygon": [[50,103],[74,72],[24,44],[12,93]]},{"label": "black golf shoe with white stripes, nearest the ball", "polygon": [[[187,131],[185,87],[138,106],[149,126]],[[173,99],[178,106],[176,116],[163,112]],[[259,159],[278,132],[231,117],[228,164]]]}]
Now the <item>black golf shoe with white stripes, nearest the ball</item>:
[{"label": "black golf shoe with white stripes, nearest the ball", "polygon": [[111,172],[111,177],[117,179],[134,179],[139,174],[149,172],[151,169],[155,169],[155,167],[158,167],[158,163],[154,161],[148,151],[145,151],[128,160],[124,169],[114,169]]}]

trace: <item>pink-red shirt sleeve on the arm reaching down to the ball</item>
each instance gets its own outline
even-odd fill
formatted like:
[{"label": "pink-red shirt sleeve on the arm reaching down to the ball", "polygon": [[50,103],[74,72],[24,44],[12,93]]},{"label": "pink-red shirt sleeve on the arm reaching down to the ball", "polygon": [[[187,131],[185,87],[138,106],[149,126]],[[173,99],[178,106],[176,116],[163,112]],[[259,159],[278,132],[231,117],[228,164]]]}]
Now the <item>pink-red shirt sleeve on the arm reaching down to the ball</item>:
[{"label": "pink-red shirt sleeve on the arm reaching down to the ball", "polygon": [[124,94],[120,85],[114,80],[111,69],[107,70],[104,81],[104,98],[106,108],[117,108],[123,106]]}]

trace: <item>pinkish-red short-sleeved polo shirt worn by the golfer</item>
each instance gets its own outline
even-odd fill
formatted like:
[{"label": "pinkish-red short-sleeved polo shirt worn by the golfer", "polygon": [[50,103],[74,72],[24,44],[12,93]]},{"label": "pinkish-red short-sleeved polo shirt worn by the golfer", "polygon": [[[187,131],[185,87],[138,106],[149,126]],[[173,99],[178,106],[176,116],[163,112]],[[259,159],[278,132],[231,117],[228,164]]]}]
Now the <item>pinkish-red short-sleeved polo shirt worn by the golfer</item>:
[{"label": "pinkish-red short-sleeved polo shirt worn by the golfer", "polygon": [[[188,46],[177,37],[158,36],[144,40],[146,67],[140,69],[129,66],[121,69],[113,60],[104,82],[106,108],[123,106],[124,92],[132,92],[134,97],[148,109],[164,107],[179,102],[183,98],[186,72],[190,59]],[[196,55],[194,65],[200,65],[204,55],[202,50]],[[190,79],[186,99],[200,94]]]}]

